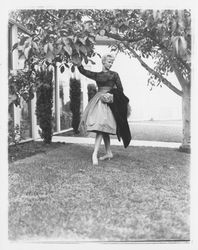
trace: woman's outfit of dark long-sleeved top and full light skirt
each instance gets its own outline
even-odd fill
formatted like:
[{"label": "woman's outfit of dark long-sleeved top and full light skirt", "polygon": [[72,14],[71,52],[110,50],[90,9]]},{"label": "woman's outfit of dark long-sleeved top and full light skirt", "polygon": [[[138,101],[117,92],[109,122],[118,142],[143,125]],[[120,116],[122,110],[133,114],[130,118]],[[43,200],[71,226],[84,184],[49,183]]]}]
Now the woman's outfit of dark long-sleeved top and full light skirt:
[{"label": "woman's outfit of dark long-sleeved top and full light skirt", "polygon": [[82,114],[79,129],[83,133],[100,131],[116,134],[115,118],[108,104],[101,100],[101,96],[114,87],[123,91],[118,73],[114,71],[92,72],[85,70],[83,66],[78,67],[78,69],[86,77],[95,80],[98,86],[98,92],[89,101]]}]

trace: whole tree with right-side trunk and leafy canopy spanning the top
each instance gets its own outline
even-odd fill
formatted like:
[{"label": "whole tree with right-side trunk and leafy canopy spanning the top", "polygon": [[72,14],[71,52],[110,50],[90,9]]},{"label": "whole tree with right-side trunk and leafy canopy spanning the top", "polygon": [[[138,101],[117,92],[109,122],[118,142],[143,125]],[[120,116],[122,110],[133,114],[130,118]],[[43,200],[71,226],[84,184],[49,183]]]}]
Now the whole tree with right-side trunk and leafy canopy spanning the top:
[{"label": "whole tree with right-side trunk and leafy canopy spanning the top", "polygon": [[[182,97],[183,141],[190,144],[191,14],[188,10],[20,10],[11,16],[33,32],[22,55],[33,52],[36,66],[56,61],[77,64],[91,61],[96,37],[113,38],[112,50],[137,58],[150,73],[151,86],[165,85]],[[144,58],[152,57],[151,68]],[[39,60],[38,60],[39,58]],[[91,61],[92,62],[92,61]],[[93,63],[93,62],[92,62]],[[71,70],[74,71],[74,65]],[[41,65],[39,66],[41,67]],[[167,79],[174,72],[181,89]]]}]

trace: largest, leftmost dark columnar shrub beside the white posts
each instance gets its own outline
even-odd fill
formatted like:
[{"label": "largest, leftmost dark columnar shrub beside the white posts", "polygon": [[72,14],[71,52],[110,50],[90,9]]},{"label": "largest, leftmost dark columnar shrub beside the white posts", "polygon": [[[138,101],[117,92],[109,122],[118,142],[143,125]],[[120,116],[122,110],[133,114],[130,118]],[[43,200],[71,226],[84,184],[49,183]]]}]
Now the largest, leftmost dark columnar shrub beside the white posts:
[{"label": "largest, leftmost dark columnar shrub beside the white posts", "polygon": [[53,71],[39,73],[40,84],[37,88],[36,115],[41,128],[40,136],[45,143],[51,143],[53,134],[52,106],[53,106]]}]

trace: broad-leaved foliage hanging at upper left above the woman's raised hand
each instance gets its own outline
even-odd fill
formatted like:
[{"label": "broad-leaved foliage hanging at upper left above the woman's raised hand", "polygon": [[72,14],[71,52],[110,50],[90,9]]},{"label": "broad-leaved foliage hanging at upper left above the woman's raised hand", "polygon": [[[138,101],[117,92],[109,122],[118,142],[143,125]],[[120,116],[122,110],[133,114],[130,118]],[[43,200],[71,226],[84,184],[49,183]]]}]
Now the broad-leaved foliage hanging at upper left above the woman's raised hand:
[{"label": "broad-leaved foliage hanging at upper left above the woman's raised hand", "polygon": [[[19,57],[32,61],[38,70],[46,61],[70,67],[71,62],[88,63],[94,55],[95,34],[83,24],[81,10],[19,10],[10,13],[12,18],[32,31],[32,36],[21,36],[14,45]],[[30,59],[31,55],[31,59]],[[68,64],[69,63],[69,64]],[[63,69],[63,68],[62,68]],[[74,71],[75,68],[71,67]]]}]

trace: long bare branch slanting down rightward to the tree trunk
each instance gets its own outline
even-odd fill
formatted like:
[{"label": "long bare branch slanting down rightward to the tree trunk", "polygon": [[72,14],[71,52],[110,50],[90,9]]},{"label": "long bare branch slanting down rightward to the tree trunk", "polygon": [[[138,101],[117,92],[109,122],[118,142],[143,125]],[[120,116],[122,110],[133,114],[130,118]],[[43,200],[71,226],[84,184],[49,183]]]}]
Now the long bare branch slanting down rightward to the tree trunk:
[{"label": "long bare branch slanting down rightward to the tree trunk", "polygon": [[128,45],[125,44],[125,47],[137,58],[137,60],[141,63],[141,65],[151,74],[156,76],[160,81],[166,85],[169,89],[175,92],[177,95],[182,96],[182,91],[176,88],[171,82],[169,82],[165,77],[160,75],[157,71],[150,68],[142,59],[141,57],[135,52],[135,50]]}]

